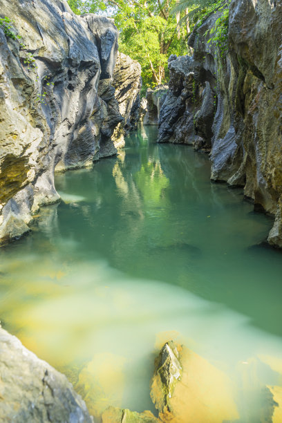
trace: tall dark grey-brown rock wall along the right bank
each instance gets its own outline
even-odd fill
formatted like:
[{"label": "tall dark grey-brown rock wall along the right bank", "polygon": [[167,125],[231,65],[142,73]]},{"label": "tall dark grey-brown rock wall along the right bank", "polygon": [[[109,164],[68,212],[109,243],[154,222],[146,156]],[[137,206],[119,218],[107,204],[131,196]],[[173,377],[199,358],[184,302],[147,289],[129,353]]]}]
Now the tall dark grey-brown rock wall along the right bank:
[{"label": "tall dark grey-brown rock wall along the right bank", "polygon": [[209,41],[222,16],[196,26],[192,58],[171,58],[159,142],[211,151],[212,180],[243,186],[274,214],[267,241],[282,247],[282,2],[232,0],[227,51]]}]

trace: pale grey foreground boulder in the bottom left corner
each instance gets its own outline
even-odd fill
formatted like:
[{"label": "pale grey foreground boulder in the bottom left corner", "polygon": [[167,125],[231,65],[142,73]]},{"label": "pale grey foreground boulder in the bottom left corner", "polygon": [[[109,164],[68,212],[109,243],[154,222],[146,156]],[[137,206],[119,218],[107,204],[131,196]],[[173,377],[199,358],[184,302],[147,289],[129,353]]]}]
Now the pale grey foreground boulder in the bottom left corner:
[{"label": "pale grey foreground boulder in the bottom left corner", "polygon": [[66,377],[0,328],[1,422],[91,423]]}]

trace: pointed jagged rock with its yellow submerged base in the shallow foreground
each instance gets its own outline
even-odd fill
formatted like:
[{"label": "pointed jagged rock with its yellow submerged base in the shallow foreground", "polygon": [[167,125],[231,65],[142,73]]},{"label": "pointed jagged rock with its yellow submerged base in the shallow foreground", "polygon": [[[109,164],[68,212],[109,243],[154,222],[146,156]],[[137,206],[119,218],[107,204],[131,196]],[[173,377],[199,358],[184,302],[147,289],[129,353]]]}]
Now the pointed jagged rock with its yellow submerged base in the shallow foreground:
[{"label": "pointed jagged rock with its yellow submerged base in the shallow foreground", "polygon": [[238,419],[232,382],[184,346],[167,342],[155,361],[151,398],[166,423]]}]

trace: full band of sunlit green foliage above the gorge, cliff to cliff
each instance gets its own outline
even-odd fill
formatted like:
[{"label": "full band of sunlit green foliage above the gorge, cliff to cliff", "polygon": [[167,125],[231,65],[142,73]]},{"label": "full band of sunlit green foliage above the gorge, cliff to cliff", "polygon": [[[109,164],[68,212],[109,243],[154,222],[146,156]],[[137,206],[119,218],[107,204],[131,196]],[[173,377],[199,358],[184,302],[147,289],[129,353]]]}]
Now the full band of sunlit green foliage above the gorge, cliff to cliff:
[{"label": "full band of sunlit green foliage above the gorge, cliff to cliff", "polygon": [[120,51],[142,66],[143,90],[167,82],[169,55],[187,55],[187,37],[225,0],[68,0],[77,14],[103,13],[120,30]]}]

